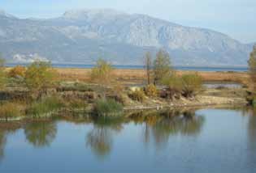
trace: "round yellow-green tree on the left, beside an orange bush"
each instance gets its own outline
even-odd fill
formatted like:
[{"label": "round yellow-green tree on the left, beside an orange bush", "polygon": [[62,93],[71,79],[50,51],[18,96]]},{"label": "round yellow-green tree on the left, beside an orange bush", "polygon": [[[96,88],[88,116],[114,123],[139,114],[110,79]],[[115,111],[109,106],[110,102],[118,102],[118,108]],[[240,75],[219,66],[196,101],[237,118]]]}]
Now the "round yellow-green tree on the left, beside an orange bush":
[{"label": "round yellow-green tree on the left, beside an orange bush", "polygon": [[46,93],[47,88],[54,86],[56,77],[57,73],[50,62],[35,61],[25,72],[25,84],[30,91],[41,95],[42,92]]}]

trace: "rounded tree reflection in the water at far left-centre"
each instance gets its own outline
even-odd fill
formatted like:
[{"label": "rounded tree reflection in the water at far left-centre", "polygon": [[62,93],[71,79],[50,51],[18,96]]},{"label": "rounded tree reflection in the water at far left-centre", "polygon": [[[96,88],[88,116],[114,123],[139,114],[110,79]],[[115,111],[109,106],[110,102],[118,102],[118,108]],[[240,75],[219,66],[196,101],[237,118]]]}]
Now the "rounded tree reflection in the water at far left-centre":
[{"label": "rounded tree reflection in the water at far left-centre", "polygon": [[33,122],[24,128],[26,139],[35,147],[50,146],[56,137],[56,124],[52,121]]}]

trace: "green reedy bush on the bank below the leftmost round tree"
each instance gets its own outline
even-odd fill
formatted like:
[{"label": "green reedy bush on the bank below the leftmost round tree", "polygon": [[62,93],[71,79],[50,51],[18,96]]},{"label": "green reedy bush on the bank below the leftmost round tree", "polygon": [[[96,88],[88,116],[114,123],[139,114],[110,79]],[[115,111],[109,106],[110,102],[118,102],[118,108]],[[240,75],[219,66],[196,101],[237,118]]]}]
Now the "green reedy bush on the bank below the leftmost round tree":
[{"label": "green reedy bush on the bank below the leftmost round tree", "polygon": [[54,112],[59,108],[63,108],[64,106],[65,104],[63,99],[56,96],[46,97],[32,103],[31,106],[27,109],[27,114],[33,116],[41,116],[49,112]]}]

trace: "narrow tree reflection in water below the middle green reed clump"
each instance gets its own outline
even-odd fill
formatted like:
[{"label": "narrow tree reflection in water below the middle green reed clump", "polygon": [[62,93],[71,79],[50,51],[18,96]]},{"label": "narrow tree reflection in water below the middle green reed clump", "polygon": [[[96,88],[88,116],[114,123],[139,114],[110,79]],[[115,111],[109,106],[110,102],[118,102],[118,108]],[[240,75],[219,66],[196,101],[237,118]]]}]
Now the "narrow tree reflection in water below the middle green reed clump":
[{"label": "narrow tree reflection in water below the middle green reed clump", "polygon": [[98,119],[93,120],[93,129],[86,136],[86,146],[99,158],[105,158],[111,153],[112,136],[119,133],[123,127],[123,119]]}]

